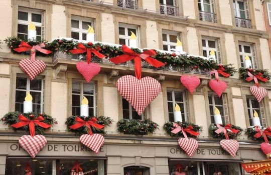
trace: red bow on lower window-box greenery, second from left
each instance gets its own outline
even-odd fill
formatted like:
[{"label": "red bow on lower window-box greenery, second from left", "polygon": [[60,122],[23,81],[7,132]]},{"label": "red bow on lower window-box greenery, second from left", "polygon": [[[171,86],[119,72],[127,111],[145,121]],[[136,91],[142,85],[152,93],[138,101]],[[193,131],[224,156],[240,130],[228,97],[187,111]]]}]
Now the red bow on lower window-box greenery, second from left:
[{"label": "red bow on lower window-box greenery, second from left", "polygon": [[73,125],[71,125],[70,128],[72,128],[72,129],[77,129],[77,128],[82,127],[82,126],[87,126],[87,127],[88,127],[88,130],[89,130],[88,133],[89,133],[90,135],[93,134],[90,126],[96,127],[96,128],[98,128],[98,129],[102,129],[102,128],[104,127],[104,126],[101,125],[101,124],[95,123],[95,122],[98,121],[97,118],[95,118],[95,117],[89,119],[88,121],[85,121],[85,120],[81,119],[80,117],[76,116],[76,117],[75,117],[75,121],[76,121],[76,123],[73,124]]}]

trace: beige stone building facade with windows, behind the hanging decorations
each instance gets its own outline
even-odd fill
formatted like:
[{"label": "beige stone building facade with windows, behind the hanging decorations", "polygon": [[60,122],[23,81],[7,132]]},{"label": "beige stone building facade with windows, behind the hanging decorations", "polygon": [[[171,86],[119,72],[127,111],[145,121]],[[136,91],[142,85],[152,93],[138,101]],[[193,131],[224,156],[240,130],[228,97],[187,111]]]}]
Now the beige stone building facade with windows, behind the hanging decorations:
[{"label": "beige stone building facade with windows, behind the hanging decorations", "polygon": [[[252,67],[271,69],[268,47],[269,33],[265,25],[266,8],[260,0],[4,0],[1,2],[2,23],[0,39],[9,36],[27,38],[28,25],[36,25],[37,39],[51,41],[57,37],[85,40],[87,25],[95,29],[95,40],[129,45],[130,31],[137,35],[139,48],[168,50],[182,41],[185,52],[210,56],[213,50],[217,63],[244,66],[249,56]],[[268,3],[267,3],[268,4]],[[265,11],[266,12],[266,11]],[[269,11],[268,11],[269,13]],[[268,26],[269,27],[269,26]],[[241,174],[240,162],[264,159],[259,142],[249,140],[244,132],[238,137],[239,150],[235,157],[220,147],[219,140],[208,132],[214,123],[214,108],[221,111],[225,123],[245,129],[252,125],[253,110],[260,122],[271,123],[271,86],[261,102],[251,95],[251,83],[239,79],[238,72],[227,82],[219,98],[207,85],[207,73],[194,72],[201,79],[193,94],[181,84],[180,76],[192,71],[142,68],[143,76],[159,79],[161,92],[138,116],[123,100],[116,80],[126,74],[134,75],[132,65],[99,62],[101,71],[86,83],[76,70],[78,58],[60,53],[53,57],[36,56],[46,63],[46,69],[30,80],[19,67],[28,55],[14,54],[6,44],[0,49],[0,116],[22,112],[27,91],[35,93],[33,111],[57,119],[45,132],[47,145],[32,159],[18,143],[24,132],[14,132],[0,123],[0,174],[24,172],[31,163],[34,174],[69,174],[75,160],[86,174],[175,174],[182,164],[188,174]],[[108,58],[106,58],[108,60]],[[78,136],[69,132],[66,118],[78,115],[82,96],[88,96],[90,115],[109,116],[115,122],[106,127],[105,142],[95,154],[82,146]],[[34,95],[33,95],[34,96]],[[78,102],[79,101],[79,102]],[[177,138],[165,133],[163,125],[173,120],[173,104],[181,105],[183,119],[203,127],[198,137],[199,148],[190,158],[178,145]],[[159,124],[155,133],[143,136],[117,131],[116,122],[122,118],[146,119]]]}]

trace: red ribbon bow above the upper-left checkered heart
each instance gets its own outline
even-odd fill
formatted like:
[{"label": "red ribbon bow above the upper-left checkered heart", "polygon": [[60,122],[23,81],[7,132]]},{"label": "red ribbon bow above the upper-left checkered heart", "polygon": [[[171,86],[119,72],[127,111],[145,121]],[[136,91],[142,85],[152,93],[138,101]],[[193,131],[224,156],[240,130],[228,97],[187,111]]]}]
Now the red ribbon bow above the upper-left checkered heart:
[{"label": "red ribbon bow above the upper-left checkered heart", "polygon": [[25,41],[21,41],[20,45],[22,45],[22,46],[18,47],[18,48],[14,48],[14,50],[17,52],[23,52],[23,51],[30,50],[30,59],[33,61],[36,58],[36,50],[39,50],[40,52],[45,53],[45,54],[52,53],[52,51],[42,48],[42,47],[45,47],[45,43],[40,43],[40,44],[31,46],[28,43],[26,43]]}]

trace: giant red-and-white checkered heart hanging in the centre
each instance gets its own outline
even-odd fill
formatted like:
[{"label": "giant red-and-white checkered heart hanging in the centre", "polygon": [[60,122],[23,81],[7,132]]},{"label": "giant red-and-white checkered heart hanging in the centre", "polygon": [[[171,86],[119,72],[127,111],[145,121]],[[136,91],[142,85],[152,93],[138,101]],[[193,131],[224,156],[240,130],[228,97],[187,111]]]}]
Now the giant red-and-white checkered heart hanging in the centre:
[{"label": "giant red-and-white checkered heart hanging in the centre", "polygon": [[139,115],[161,91],[161,84],[150,76],[142,79],[137,79],[132,75],[121,76],[116,82],[116,87]]}]

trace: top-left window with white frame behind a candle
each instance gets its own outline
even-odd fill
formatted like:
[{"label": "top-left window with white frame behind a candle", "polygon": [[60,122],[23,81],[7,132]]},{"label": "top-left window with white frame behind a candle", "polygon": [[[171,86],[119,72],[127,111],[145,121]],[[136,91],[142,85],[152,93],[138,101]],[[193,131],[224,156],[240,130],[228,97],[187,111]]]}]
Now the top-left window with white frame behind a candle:
[{"label": "top-left window with white frame behind a candle", "polygon": [[44,11],[29,11],[19,9],[18,11],[18,29],[17,36],[21,39],[28,40],[28,26],[32,22],[36,26],[36,40],[41,41],[45,32],[45,14]]}]

